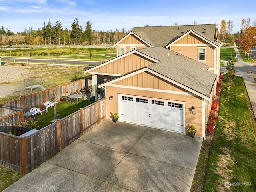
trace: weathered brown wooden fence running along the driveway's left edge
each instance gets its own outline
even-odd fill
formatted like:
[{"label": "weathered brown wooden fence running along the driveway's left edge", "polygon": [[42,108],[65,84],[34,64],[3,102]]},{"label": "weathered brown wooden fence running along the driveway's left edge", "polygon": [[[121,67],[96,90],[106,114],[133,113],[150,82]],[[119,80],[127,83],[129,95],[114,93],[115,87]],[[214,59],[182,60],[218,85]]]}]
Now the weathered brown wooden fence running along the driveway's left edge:
[{"label": "weathered brown wooden fence running along the driveway's left edge", "polygon": [[106,98],[24,138],[0,132],[0,166],[25,175],[104,119]]}]

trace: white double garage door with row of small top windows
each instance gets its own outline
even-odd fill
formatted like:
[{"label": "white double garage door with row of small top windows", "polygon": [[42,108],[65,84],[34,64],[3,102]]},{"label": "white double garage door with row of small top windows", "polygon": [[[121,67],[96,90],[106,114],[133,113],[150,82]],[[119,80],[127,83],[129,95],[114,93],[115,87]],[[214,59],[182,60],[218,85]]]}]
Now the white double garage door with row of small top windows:
[{"label": "white double garage door with row of small top windows", "polygon": [[119,96],[120,120],[183,133],[183,104],[168,100]]}]

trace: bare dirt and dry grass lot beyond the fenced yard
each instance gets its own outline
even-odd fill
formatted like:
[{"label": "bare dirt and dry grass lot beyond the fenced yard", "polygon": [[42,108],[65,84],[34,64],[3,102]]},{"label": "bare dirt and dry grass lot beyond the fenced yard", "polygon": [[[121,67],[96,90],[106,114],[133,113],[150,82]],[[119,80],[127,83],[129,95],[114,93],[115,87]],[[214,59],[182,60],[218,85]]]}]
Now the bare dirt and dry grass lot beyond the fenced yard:
[{"label": "bare dirt and dry grass lot beyond the fenced yard", "polygon": [[88,77],[84,67],[52,66],[42,64],[4,64],[0,66],[0,101],[30,94],[25,92],[25,79],[42,78],[46,88],[63,85],[72,81],[74,76]]}]

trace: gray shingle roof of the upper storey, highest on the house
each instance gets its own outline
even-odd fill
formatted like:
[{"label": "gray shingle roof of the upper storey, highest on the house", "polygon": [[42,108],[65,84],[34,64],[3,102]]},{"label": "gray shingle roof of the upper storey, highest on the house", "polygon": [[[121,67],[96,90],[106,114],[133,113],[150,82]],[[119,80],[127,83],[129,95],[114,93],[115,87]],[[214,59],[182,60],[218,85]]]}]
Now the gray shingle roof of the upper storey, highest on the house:
[{"label": "gray shingle roof of the upper storey, highest on the house", "polygon": [[216,24],[132,28],[132,32],[152,46],[166,46],[190,30],[214,42]]}]

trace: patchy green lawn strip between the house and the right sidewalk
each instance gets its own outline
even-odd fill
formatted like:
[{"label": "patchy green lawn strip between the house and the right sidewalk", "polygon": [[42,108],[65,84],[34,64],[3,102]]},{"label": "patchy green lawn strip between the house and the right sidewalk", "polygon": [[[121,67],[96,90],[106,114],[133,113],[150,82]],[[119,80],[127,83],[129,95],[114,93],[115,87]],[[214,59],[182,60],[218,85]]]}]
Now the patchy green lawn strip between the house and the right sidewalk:
[{"label": "patchy green lawn strip between the house and the right sidewalk", "polygon": [[[255,124],[244,80],[224,81],[215,137],[210,149],[205,192],[256,191]],[[230,186],[225,182],[249,182],[251,186]]]}]

